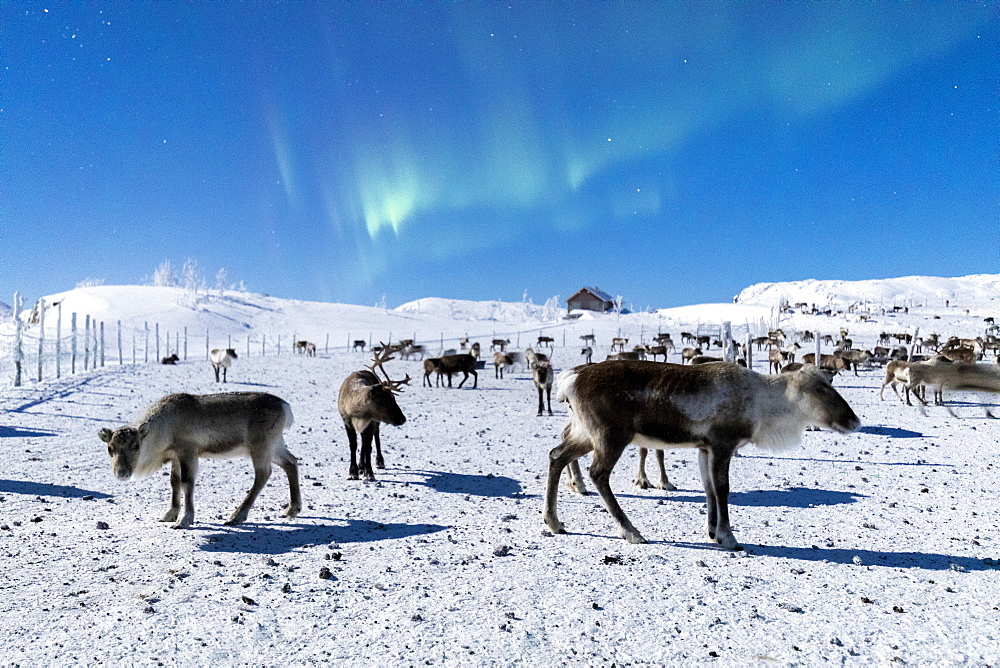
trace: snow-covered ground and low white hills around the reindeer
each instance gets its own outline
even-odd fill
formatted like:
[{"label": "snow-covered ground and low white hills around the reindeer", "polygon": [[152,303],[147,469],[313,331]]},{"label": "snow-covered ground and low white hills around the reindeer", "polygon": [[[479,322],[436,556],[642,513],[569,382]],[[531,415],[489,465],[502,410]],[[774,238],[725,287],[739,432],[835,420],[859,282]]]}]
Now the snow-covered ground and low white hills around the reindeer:
[{"label": "snow-covered ground and low white hills around the reindeer", "polygon": [[[947,279],[911,283],[930,280]],[[784,297],[800,301],[799,287],[785,284]],[[845,302],[851,287],[838,288]],[[554,332],[556,366],[565,368],[580,361],[580,333],[595,331],[600,358],[621,330],[648,338],[662,326],[678,340],[691,323],[771,318],[773,305],[747,298],[621,318],[550,321],[542,312],[502,322],[469,319],[478,316],[468,302],[442,313],[428,300],[407,312],[232,296],[191,308],[152,288],[123,294],[130,290],[66,293],[64,317],[81,300],[74,310],[108,322],[208,326],[236,341],[237,332],[290,339],[295,330],[317,339],[320,355],[252,348],[226,386],[213,381],[203,344],[177,366],[119,365],[109,354],[103,368],[59,380],[47,372],[12,388],[0,379],[0,663],[1000,661],[1000,422],[982,408],[996,397],[951,393],[953,416],[901,405],[888,392],[879,401],[881,369],[838,377],[860,432],[807,432],[792,452],[751,445],[733,461],[732,520],[743,553],[702,536],[704,493],[689,450],[667,454],[675,492],[632,484],[634,449],[615,470],[612,486],[650,544],[625,543],[598,497],[565,487],[559,508],[570,533],[551,536],[541,521],[543,478],[566,411],[558,405],[555,416],[536,417],[520,368],[502,380],[488,368],[478,389],[449,390],[421,387],[418,361],[390,362],[393,377],[414,378],[399,397],[408,421],[383,428],[388,468],[377,483],[347,480],[336,393],[369,360],[346,350],[348,335],[391,330],[400,338],[417,329],[433,342],[468,333],[488,347],[494,333],[520,333],[523,347],[539,331]],[[998,297],[954,294],[947,308],[915,300],[909,313],[879,311],[870,322],[795,314],[780,324],[831,333],[844,326],[855,347],[873,346],[880,331],[917,327],[967,336],[982,333]],[[481,304],[487,316],[498,312]],[[124,317],[129,309],[137,313]],[[337,346],[324,352],[328,332]],[[169,501],[166,471],[116,480],[97,431],[134,419],[166,393],[223,389],[267,391],[292,404],[286,440],[300,461],[305,509],[294,520],[280,516],[288,487],[276,470],[250,521],[224,526],[249,488],[249,462],[203,460],[195,526],[171,530],[157,521]]]}]

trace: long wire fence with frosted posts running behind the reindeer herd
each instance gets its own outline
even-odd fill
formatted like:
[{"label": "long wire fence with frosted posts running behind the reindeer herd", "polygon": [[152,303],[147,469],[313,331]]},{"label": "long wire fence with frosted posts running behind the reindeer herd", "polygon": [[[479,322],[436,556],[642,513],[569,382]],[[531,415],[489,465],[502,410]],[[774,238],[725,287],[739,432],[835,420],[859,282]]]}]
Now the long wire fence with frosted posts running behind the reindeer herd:
[{"label": "long wire fence with frosted posts running behind the reindeer herd", "polygon": [[[30,312],[22,312],[17,303],[13,313],[22,313],[12,322],[0,325],[0,385],[8,383],[17,387],[29,381],[41,382],[67,375],[86,373],[107,365],[160,364],[192,359],[208,360],[213,349],[230,348],[241,356],[280,356],[296,353],[329,355],[334,352],[368,352],[376,343],[409,341],[422,347],[423,354],[463,352],[470,348],[473,338],[479,340],[483,352],[494,341],[505,341],[513,349],[527,346],[561,345],[577,346],[587,335],[594,334],[594,323],[580,320],[563,320],[537,326],[521,325],[500,329],[490,335],[480,333],[470,337],[467,332],[435,332],[413,330],[410,332],[374,330],[345,332],[342,329],[320,335],[320,341],[306,341],[297,332],[246,333],[195,329],[191,326],[162,326],[158,322],[124,322],[99,320],[86,313],[66,313],[62,305],[45,306],[39,302]],[[456,325],[461,325],[456,322]],[[607,322],[600,324],[602,332],[608,331]],[[636,323],[628,318],[619,319],[617,337],[629,339],[631,345],[649,343],[658,333],[667,331],[664,323]],[[674,324],[674,329],[677,325]],[[482,332],[480,326],[479,331]],[[691,323],[687,329],[698,335],[711,335],[717,339],[741,343],[750,336],[766,331],[767,323]],[[676,332],[675,332],[676,334]],[[310,332],[315,336],[315,330]],[[488,340],[487,336],[489,337]],[[546,339],[548,339],[546,341]],[[545,341],[545,343],[542,343]],[[611,341],[601,345],[611,344]]]}]

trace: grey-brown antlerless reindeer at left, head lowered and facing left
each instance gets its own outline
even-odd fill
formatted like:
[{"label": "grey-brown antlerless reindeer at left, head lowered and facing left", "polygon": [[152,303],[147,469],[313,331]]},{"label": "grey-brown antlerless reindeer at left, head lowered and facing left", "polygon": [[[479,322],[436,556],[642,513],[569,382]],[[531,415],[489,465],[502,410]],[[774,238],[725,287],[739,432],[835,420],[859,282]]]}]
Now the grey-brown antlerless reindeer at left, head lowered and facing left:
[{"label": "grey-brown antlerless reindeer at left, head lowered and facing left", "polygon": [[187,529],[194,523],[194,480],[199,457],[243,456],[253,463],[253,485],[226,524],[246,521],[250,507],[271,476],[272,462],[288,477],[290,499],[283,514],[298,515],[302,509],[298,464],[282,436],[290,426],[291,406],[273,394],[168,394],[150,406],[134,425],[114,431],[101,429],[98,436],[108,444],[111,469],[119,479],[136,480],[170,462],[170,508],[160,521],[174,522],[174,529]]}]

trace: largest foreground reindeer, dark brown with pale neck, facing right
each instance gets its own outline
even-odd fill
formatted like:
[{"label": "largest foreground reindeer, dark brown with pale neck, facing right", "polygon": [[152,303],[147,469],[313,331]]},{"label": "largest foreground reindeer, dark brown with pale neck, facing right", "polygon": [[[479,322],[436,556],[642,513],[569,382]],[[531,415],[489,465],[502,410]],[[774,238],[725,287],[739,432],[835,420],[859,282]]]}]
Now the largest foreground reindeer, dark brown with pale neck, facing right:
[{"label": "largest foreground reindeer, dark brown with pale neck, facing right", "polygon": [[[604,362],[559,376],[557,398],[569,402],[562,443],[549,453],[546,525],[566,533],[556,514],[559,478],[567,465],[593,451],[590,477],[630,543],[646,539],[632,525],[609,484],[629,443],[644,448],[694,447],[708,504],[709,537],[742,549],[729,524],[729,462],[743,445],[782,450],[798,444],[811,425],[848,433],[861,422],[813,366],[765,376],[736,364],[681,366]],[[571,478],[577,475],[571,468]]]}]

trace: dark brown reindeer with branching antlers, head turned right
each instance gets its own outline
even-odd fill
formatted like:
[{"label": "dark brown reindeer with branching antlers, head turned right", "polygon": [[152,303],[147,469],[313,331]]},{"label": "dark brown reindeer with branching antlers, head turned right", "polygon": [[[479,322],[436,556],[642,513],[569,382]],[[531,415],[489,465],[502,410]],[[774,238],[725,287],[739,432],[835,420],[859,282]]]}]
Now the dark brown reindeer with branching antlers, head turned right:
[{"label": "dark brown reindeer with branching antlers, head turned right", "polygon": [[[340,386],[337,397],[337,409],[344,420],[347,429],[347,440],[351,446],[351,468],[348,479],[357,480],[359,469],[356,460],[358,450],[358,433],[361,434],[361,469],[364,479],[375,481],[372,471],[372,439],[375,440],[375,466],[384,469],[382,458],[382,441],[379,438],[379,425],[383,422],[396,427],[406,422],[406,416],[396,403],[396,395],[402,391],[403,385],[410,382],[407,374],[403,380],[392,380],[383,366],[391,359],[399,348],[382,344],[381,350],[375,354],[372,364],[367,369],[355,371]],[[380,380],[375,373],[382,370],[385,380]]]}]

